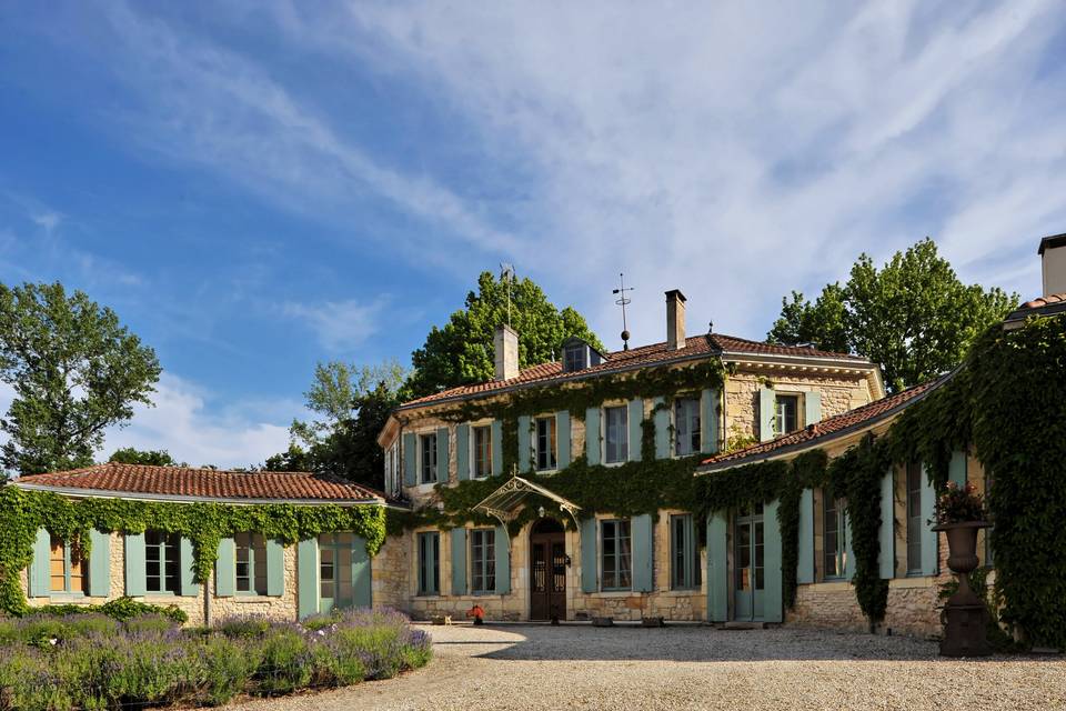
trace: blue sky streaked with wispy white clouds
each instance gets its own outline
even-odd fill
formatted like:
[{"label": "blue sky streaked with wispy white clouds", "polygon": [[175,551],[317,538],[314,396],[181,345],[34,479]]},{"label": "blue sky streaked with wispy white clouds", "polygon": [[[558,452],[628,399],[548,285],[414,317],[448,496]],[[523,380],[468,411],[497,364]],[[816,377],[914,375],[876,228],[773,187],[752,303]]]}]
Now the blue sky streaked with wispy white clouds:
[{"label": "blue sky streaked with wispy white clouds", "polygon": [[0,32],[0,281],[87,291],[165,370],[109,451],[261,462],[316,361],[406,360],[501,261],[616,347],[620,271],[637,343],[671,288],[762,338],[926,234],[1035,296],[1066,231],[1057,2],[8,2]]}]

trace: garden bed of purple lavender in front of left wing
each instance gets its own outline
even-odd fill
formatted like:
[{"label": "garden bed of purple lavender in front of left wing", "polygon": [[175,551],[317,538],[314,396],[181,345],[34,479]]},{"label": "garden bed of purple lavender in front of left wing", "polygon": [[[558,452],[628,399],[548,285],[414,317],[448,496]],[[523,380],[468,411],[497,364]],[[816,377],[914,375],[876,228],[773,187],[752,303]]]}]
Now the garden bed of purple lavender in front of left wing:
[{"label": "garden bed of purple lavender in front of left wing", "polygon": [[39,613],[0,620],[0,709],[220,705],[239,694],[389,679],[431,654],[429,635],[392,611],[301,624],[241,617],[189,629],[159,613]]}]

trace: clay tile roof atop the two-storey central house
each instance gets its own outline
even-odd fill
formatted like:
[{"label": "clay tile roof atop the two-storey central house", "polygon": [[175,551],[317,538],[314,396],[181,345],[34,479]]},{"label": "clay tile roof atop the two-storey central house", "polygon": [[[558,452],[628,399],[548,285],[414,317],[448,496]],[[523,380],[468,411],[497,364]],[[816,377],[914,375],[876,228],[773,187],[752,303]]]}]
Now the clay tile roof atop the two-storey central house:
[{"label": "clay tile roof atop the two-storey central house", "polygon": [[672,361],[697,359],[701,356],[710,357],[722,353],[727,356],[751,353],[761,356],[792,356],[794,358],[831,358],[836,360],[851,360],[858,367],[872,367],[866,359],[849,353],[832,353],[803,346],[774,346],[733,336],[708,333],[685,339],[685,347],[677,350],[670,350],[666,348],[666,343],[662,342],[652,346],[642,346],[627,351],[609,353],[606,354],[607,360],[604,360],[599,365],[592,365],[575,372],[564,373],[562,363],[541,363],[540,365],[523,369],[516,377],[509,380],[490,380],[451,388],[442,392],[425,395],[424,398],[419,398],[418,400],[404,402],[400,405],[400,409],[432,404],[443,400],[490,394],[497,390],[507,390],[510,388],[534,383],[547,384],[566,380],[580,380],[590,375],[633,370],[645,365],[651,367]]}]

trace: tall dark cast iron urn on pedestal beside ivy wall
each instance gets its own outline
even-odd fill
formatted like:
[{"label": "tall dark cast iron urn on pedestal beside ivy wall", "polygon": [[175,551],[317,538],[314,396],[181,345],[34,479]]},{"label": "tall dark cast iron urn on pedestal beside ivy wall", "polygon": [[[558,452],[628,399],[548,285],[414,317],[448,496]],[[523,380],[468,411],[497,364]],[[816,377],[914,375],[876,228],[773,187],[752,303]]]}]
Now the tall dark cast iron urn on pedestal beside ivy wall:
[{"label": "tall dark cast iron urn on pedestal beside ivy wall", "polygon": [[947,535],[947,567],[958,577],[958,590],[948,598],[941,613],[944,639],[941,654],[945,657],[987,657],[992,648],[985,635],[988,608],[969,587],[969,573],[980,562],[977,559],[977,531],[988,528],[986,521],[942,523],[934,531]]}]

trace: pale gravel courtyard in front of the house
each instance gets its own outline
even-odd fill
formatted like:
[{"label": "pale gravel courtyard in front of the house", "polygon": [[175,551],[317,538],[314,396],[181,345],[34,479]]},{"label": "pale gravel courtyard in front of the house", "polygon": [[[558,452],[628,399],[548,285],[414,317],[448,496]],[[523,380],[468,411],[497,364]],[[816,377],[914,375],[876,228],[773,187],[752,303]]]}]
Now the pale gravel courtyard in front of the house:
[{"label": "pale gravel courtyard in front of the house", "polygon": [[704,627],[425,628],[434,660],[400,679],[255,701],[351,709],[1066,709],[1066,660],[947,661],[905,638]]}]

